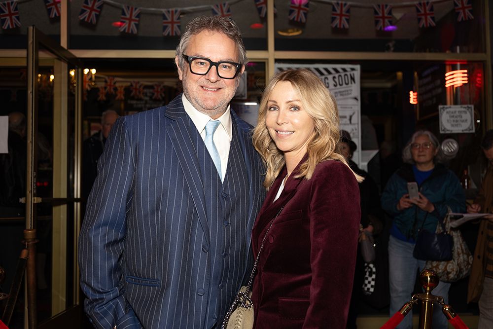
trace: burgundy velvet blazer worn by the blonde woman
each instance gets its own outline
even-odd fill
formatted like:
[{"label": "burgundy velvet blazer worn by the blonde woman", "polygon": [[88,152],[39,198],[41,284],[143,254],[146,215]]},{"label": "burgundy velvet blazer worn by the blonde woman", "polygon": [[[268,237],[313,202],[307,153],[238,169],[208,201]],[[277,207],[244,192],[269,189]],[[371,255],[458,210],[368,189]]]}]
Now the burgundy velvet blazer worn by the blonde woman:
[{"label": "burgundy velvet blazer worn by the blonde woman", "polygon": [[273,202],[287,173],[282,170],[253,225],[256,257],[271,220],[284,207],[257,266],[254,328],[345,329],[360,221],[358,184],[336,160],[319,163],[310,180],[294,178],[298,167]]}]

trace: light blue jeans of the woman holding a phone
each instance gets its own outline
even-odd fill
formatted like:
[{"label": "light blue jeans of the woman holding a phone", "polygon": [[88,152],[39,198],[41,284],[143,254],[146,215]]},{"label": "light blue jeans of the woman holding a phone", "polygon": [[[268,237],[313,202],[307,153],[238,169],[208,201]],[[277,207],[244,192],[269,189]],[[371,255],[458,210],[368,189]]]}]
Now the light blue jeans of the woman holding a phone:
[{"label": "light blue jeans of the woman holding a phone", "polygon": [[[390,316],[399,311],[404,303],[408,302],[414,291],[416,283],[416,273],[423,270],[425,260],[413,257],[414,244],[399,240],[390,236],[388,241],[388,277],[390,285]],[[433,289],[435,296],[442,296],[444,302],[449,301],[450,283],[440,282]],[[412,311],[395,328],[413,328]],[[442,308],[437,303],[433,305],[433,328],[447,329],[448,321],[442,312]]]}]

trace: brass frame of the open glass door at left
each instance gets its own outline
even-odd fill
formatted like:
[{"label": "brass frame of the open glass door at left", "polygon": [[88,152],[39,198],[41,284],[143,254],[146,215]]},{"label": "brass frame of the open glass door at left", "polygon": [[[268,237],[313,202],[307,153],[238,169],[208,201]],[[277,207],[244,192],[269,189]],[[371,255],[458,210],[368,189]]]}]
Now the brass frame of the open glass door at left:
[{"label": "brass frame of the open glass door at left", "polygon": [[[36,196],[36,134],[37,134],[37,72],[39,68],[39,48],[42,47],[50,52],[55,58],[51,59],[54,75],[57,78],[53,83],[53,194],[51,198],[40,198]],[[51,38],[45,36],[34,26],[28,28],[28,47],[27,47],[27,172],[26,172],[26,229],[36,228],[36,203],[49,202],[53,204],[53,238],[52,253],[56,255],[52,262],[52,316],[65,311],[67,303],[69,305],[79,304],[78,289],[78,267],[76,262],[77,236],[81,223],[80,206],[80,162],[81,162],[81,117],[82,117],[82,63],[68,50],[61,47]],[[69,85],[69,64],[76,68],[77,82],[75,86],[75,122],[74,122],[74,144],[68,144],[68,85]],[[74,172],[73,172],[73,198],[68,199],[68,156],[69,147],[74,148]],[[74,288],[73,300],[67,301],[67,203],[74,203]],[[30,257],[35,262],[35,257]],[[34,266],[35,268],[35,266]],[[31,276],[34,276],[32,273]],[[28,274],[29,276],[29,274]],[[27,287],[27,295],[35,299],[35,280]],[[27,305],[35,309],[35,300]],[[36,326],[35,312],[27,310],[29,327]],[[34,319],[33,319],[34,318]]]}]

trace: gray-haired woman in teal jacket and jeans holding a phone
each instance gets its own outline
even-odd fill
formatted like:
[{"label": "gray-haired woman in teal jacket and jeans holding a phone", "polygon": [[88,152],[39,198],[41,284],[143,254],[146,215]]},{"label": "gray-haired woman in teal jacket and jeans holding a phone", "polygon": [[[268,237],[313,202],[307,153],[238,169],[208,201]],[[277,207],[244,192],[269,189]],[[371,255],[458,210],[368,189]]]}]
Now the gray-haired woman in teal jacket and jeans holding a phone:
[{"label": "gray-haired woman in teal jacket and jeans holding a phone", "polygon": [[[388,180],[382,193],[382,208],[392,218],[388,242],[390,316],[411,299],[418,271],[425,260],[413,256],[418,230],[435,232],[438,219],[448,209],[465,211],[465,195],[457,176],[442,164],[445,160],[438,139],[427,130],[417,131],[402,151],[404,165]],[[418,184],[418,197],[410,198],[409,182]],[[448,303],[450,283],[440,282],[433,290]],[[412,314],[397,326],[411,329]],[[433,309],[433,328],[446,329],[441,307]]]}]

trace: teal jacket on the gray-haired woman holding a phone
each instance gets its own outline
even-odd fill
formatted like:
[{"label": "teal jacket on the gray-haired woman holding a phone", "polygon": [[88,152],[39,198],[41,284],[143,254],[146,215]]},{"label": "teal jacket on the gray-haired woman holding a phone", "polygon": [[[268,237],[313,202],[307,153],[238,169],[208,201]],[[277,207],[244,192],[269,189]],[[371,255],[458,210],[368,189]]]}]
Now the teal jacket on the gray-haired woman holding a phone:
[{"label": "teal jacket on the gray-haired woman holding a phone", "polygon": [[390,177],[381,200],[382,209],[392,217],[394,228],[411,242],[422,226],[434,232],[438,219],[445,218],[448,208],[454,213],[465,212],[464,190],[457,176],[441,164],[436,164],[431,175],[419,186],[420,192],[433,203],[435,210],[427,213],[417,206],[397,210],[399,199],[407,193],[407,183],[415,181],[412,165],[405,164]]}]

